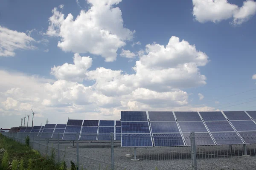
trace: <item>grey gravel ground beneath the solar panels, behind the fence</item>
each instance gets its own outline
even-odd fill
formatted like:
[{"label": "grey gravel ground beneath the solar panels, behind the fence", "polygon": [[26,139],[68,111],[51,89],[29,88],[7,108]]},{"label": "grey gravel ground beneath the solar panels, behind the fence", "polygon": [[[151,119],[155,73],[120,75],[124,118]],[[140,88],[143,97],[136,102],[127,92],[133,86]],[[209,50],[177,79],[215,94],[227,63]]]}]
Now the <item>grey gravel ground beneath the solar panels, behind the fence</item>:
[{"label": "grey gravel ground beneath the solar panels, behind the fence", "polygon": [[[42,154],[50,155],[51,148],[58,148],[58,142],[50,140],[47,145],[45,141],[34,144],[34,148],[40,150]],[[73,146],[73,143],[72,143]],[[244,157],[242,145],[227,146],[204,146],[197,147],[197,167],[198,170],[254,170],[255,168],[255,148],[256,145],[247,146],[247,154]],[[74,147],[70,147],[69,142],[60,142],[60,158],[76,164],[76,142]],[[56,150],[55,150],[56,152]],[[148,147],[137,148],[137,158],[139,161],[131,161],[125,156],[130,154],[130,148],[121,147],[120,143],[115,143],[114,161],[116,170],[190,170],[191,165],[190,147]],[[132,149],[134,155],[134,149]],[[57,156],[57,152],[56,152]],[[100,142],[79,142],[79,165],[87,170],[110,170],[111,169],[111,144]]]}]

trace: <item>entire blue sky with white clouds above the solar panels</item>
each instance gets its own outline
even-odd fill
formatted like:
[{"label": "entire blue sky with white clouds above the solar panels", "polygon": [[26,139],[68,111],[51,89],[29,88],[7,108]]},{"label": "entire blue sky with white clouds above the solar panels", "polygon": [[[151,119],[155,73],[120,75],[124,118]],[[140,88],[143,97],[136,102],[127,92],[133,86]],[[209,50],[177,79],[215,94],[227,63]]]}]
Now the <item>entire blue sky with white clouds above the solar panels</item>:
[{"label": "entire blue sky with white clouds above the solar panels", "polygon": [[253,0],[3,0],[0,11],[1,127],[31,108],[37,124],[256,110]]}]

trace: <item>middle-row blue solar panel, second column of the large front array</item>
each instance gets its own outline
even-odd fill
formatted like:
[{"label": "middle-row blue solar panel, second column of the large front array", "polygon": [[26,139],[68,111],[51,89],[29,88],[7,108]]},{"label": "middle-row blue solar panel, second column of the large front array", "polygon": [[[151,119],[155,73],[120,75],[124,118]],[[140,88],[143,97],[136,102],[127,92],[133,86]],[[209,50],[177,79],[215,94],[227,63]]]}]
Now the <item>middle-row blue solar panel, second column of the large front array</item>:
[{"label": "middle-row blue solar panel, second column of the large front array", "polygon": [[151,122],[152,133],[179,133],[176,122]]}]

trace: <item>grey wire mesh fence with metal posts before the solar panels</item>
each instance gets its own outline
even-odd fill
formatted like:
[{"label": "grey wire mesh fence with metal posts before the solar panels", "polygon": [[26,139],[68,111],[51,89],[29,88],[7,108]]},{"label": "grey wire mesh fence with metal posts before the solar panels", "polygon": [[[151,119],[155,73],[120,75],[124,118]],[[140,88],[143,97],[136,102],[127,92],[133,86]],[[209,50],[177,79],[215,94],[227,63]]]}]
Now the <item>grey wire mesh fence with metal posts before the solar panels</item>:
[{"label": "grey wire mesh fence with metal posts before the solar panels", "polygon": [[[113,133],[102,134],[100,136],[102,141],[93,141],[95,134],[88,133],[77,133],[74,141],[43,138],[38,133],[2,134],[23,144],[26,136],[29,136],[30,147],[38,150],[41,155],[45,157],[55,155],[56,162],[66,161],[67,166],[70,166],[70,161],[73,161],[79,165],[79,169],[87,170],[244,170],[255,169],[256,161],[256,144],[209,144],[208,135],[194,132],[183,136],[185,141],[182,142],[187,146],[181,146],[180,139],[175,136],[170,138],[168,135],[161,135],[156,139],[159,141],[155,140],[155,143],[180,145],[132,148],[121,147],[121,141],[116,141]],[[135,141],[145,139],[143,134],[130,137],[137,138]],[[244,133],[240,137],[230,136],[228,133],[210,137],[214,137],[215,141],[229,143],[235,143],[240,137],[247,141],[256,139],[252,133]],[[81,138],[87,141],[79,141],[78,139]]]}]

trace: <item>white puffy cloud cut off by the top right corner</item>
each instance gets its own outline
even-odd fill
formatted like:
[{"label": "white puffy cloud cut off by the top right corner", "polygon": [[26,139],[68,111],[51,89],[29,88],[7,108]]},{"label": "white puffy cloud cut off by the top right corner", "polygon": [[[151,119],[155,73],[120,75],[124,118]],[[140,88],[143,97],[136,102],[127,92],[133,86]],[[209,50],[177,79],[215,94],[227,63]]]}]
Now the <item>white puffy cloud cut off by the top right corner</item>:
[{"label": "white puffy cloud cut off by the top right corner", "polygon": [[239,7],[227,0],[192,0],[193,15],[200,23],[208,21],[218,23],[233,18],[232,24],[239,25],[246,22],[256,13],[256,2],[246,0]]}]

